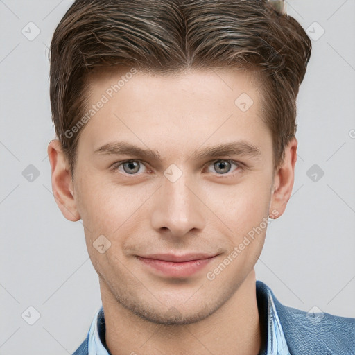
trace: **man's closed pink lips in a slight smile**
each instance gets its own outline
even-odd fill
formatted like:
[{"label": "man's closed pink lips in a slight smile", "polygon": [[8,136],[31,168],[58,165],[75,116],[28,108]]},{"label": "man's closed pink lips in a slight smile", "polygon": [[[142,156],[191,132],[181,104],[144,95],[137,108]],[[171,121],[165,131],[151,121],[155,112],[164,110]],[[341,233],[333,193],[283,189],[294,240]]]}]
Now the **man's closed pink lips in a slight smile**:
[{"label": "man's closed pink lips in a slight smile", "polygon": [[151,271],[166,277],[189,277],[202,270],[218,254],[150,254],[137,259]]}]

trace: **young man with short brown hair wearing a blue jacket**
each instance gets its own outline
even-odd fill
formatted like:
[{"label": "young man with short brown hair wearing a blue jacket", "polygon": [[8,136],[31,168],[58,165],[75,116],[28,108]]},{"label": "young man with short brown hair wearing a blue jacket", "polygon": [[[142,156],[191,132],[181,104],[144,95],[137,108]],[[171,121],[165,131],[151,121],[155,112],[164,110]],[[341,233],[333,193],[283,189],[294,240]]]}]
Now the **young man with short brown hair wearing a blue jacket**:
[{"label": "young man with short brown hair wearing a blue jacket", "polygon": [[315,322],[255,278],[311,55],[275,9],[79,0],[60,21],[53,194],[83,221],[103,302],[74,354],[355,354],[353,318]]}]

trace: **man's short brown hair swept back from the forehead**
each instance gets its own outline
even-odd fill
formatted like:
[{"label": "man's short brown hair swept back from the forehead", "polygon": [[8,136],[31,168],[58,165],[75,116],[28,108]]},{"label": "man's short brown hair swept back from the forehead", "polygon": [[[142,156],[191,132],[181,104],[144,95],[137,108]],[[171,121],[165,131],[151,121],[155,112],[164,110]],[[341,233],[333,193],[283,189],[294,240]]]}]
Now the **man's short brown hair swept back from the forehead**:
[{"label": "man's short brown hair swept back from the forehead", "polygon": [[81,130],[65,132],[85,114],[89,73],[119,66],[257,71],[277,167],[295,135],[310,56],[302,26],[266,0],[76,0],[55,29],[50,55],[52,119],[72,178]]}]

